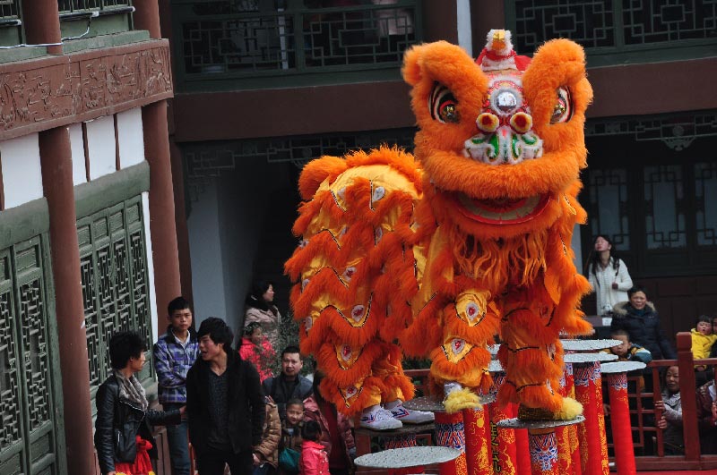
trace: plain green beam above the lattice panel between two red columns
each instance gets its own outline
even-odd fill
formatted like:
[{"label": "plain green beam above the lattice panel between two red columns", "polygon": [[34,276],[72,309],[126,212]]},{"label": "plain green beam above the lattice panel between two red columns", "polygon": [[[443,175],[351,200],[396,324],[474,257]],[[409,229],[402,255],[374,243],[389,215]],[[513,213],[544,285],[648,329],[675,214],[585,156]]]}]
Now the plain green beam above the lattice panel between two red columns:
[{"label": "plain green beam above the lattice panel between two red columns", "polygon": [[150,165],[145,161],[74,187],[77,218],[90,216],[150,190]]}]

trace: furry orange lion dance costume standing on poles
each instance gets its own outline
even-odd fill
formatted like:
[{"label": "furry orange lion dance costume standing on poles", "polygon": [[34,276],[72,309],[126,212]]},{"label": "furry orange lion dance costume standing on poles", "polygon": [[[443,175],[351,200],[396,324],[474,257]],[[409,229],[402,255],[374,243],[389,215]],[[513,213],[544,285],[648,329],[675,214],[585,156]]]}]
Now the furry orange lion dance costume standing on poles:
[{"label": "furry orange lion dance costume standing on poles", "polygon": [[370,422],[379,404],[413,396],[405,352],[430,357],[446,410],[475,406],[499,335],[498,403],[519,403],[523,419],[572,419],[580,404],[557,394],[559,336],[592,333],[569,247],[586,217],[583,49],[556,39],[530,59],[491,30],[476,61],[439,41],[411,48],[402,72],[415,157],[322,157],[299,179],[303,237],[286,271],[322,394]]}]

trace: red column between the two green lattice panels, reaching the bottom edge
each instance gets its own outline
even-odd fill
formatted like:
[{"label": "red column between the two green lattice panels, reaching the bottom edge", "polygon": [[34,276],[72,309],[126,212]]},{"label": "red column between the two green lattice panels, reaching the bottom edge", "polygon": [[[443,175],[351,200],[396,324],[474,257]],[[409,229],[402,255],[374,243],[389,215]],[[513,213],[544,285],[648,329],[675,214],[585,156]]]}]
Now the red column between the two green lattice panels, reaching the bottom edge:
[{"label": "red column between the two green lattice panels, reaching the bottom edge", "polygon": [[[28,2],[32,3],[32,2]],[[56,5],[56,3],[55,3]],[[82,307],[80,246],[74,212],[70,133],[65,127],[39,132],[42,187],[48,199],[52,273],[64,398],[67,472],[95,471],[90,367]]]}]

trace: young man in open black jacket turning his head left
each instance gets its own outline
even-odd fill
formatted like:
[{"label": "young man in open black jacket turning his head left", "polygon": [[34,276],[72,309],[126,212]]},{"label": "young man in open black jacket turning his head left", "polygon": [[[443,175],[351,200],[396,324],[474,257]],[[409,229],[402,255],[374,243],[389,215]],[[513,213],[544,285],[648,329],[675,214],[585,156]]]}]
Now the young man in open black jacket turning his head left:
[{"label": "young man in open black jacket turning his head left", "polygon": [[186,375],[186,413],[200,475],[253,470],[252,446],[262,439],[264,402],[259,374],[232,350],[231,330],[207,318],[197,332],[199,360]]}]

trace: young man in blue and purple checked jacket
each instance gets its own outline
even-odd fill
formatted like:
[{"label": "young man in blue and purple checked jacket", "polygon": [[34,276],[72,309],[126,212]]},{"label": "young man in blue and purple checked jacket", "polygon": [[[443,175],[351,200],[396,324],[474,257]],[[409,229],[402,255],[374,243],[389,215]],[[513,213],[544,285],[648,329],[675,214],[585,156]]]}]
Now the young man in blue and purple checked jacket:
[{"label": "young man in blue and purple checked jacket", "polygon": [[[186,405],[186,372],[199,356],[199,341],[192,327],[192,309],[184,297],[167,306],[169,327],[154,344],[154,369],[160,388],[160,403],[165,411]],[[167,428],[172,475],[189,475],[189,444],[186,420]]]}]

